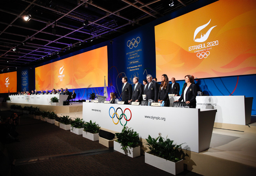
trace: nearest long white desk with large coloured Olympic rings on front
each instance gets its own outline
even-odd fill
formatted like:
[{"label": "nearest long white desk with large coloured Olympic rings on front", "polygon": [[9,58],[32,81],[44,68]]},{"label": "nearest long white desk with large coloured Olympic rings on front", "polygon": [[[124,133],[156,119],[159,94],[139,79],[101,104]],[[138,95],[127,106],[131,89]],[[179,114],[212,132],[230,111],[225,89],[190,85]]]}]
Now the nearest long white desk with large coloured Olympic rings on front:
[{"label": "nearest long white desk with large coloured Olympic rings on front", "polygon": [[[123,126],[118,122],[116,115],[111,118],[119,107],[127,116],[127,120],[131,118],[126,126],[133,128],[144,139],[149,135],[156,138],[161,133],[163,138],[167,136],[176,144],[186,143],[182,145],[183,149],[197,153],[210,146],[217,110],[83,102],[83,120],[92,120],[102,128],[121,132]],[[129,110],[125,110],[126,108]],[[116,111],[118,117],[122,111]],[[121,123],[126,123],[123,117]]]}]

